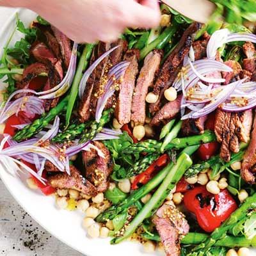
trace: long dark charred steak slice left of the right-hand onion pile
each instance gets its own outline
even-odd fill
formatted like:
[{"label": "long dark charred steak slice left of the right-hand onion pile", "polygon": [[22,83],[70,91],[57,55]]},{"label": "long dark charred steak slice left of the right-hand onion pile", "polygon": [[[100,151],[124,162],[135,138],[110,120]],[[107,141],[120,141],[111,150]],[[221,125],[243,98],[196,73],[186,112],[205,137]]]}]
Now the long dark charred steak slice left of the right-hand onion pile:
[{"label": "long dark charred steak slice left of the right-hand onion pile", "polygon": [[200,28],[200,24],[196,22],[191,24],[182,35],[182,38],[180,38],[177,47],[175,47],[170,56],[168,56],[167,60],[164,62],[163,68],[161,68],[157,76],[156,84],[154,84],[153,90],[156,95],[159,95],[159,99],[156,103],[150,104],[150,113],[156,113],[161,108],[164,90],[166,90],[173,83],[175,77],[177,76],[179,67],[184,60],[184,56],[188,54],[189,47],[192,44],[191,35],[195,33],[198,28]]}]

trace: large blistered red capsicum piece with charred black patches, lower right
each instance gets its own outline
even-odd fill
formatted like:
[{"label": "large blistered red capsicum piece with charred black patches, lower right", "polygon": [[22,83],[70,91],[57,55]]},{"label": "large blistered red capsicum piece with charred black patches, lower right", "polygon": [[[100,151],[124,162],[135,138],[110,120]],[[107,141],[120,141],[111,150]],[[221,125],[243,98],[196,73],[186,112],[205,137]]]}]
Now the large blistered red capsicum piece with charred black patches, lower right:
[{"label": "large blistered red capsicum piece with charred black patches, lower right", "polygon": [[236,211],[237,204],[227,189],[221,189],[218,195],[209,193],[205,186],[198,186],[184,195],[184,204],[188,211],[196,216],[199,226],[205,232],[212,232]]}]

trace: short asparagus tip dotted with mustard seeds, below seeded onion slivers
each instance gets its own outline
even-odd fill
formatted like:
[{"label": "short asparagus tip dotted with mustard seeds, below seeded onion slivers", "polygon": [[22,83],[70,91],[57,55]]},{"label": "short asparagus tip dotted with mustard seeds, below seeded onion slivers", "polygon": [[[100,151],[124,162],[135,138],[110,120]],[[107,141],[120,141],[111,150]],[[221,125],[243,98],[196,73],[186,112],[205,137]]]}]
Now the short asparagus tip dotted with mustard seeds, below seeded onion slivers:
[{"label": "short asparagus tip dotted with mustard seeds, below seeded onion slivers", "polygon": [[80,143],[92,140],[95,135],[102,130],[104,125],[109,122],[112,113],[113,109],[109,108],[102,113],[99,123],[97,123],[95,120],[92,121],[90,127],[86,127],[86,129],[84,130]]}]

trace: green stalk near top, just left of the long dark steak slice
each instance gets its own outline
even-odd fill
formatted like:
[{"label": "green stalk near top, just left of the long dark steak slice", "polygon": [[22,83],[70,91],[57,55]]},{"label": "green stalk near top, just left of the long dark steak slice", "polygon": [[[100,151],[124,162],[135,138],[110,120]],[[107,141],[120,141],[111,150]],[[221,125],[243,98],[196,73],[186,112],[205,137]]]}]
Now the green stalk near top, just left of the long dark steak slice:
[{"label": "green stalk near top, just left of the long dark steak slice", "polygon": [[172,39],[177,31],[177,27],[177,24],[173,23],[171,26],[164,29],[163,33],[161,33],[161,35],[159,35],[153,42],[146,45],[140,52],[140,60],[143,60],[147,54],[154,49],[163,49],[163,47]]}]

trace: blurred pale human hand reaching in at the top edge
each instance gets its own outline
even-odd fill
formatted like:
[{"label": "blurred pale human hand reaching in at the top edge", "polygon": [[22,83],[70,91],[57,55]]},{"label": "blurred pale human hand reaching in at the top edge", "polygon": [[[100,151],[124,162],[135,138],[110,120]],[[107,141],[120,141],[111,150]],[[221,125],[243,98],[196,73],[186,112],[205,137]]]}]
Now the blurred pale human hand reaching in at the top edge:
[{"label": "blurred pale human hand reaching in at the top edge", "polygon": [[[15,0],[12,0],[15,1]],[[18,1],[17,2],[22,2]],[[152,28],[161,13],[157,0],[24,0],[75,42],[111,42],[125,28]],[[36,3],[35,3],[36,2]]]}]

